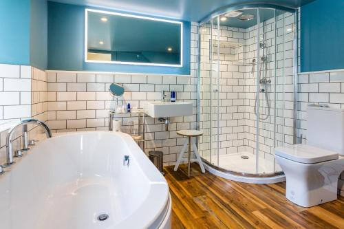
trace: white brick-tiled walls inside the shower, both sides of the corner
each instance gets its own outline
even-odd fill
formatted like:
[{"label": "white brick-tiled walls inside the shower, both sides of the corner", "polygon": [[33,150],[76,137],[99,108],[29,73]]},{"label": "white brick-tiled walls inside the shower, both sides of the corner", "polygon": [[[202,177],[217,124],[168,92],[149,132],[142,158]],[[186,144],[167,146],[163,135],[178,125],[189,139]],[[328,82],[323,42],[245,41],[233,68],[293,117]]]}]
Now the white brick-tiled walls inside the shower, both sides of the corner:
[{"label": "white brick-tiled walls inside the shower, both sides of the corner", "polygon": [[[266,76],[272,80],[268,89],[270,117],[267,103],[260,94],[259,149],[261,155],[273,157],[274,143],[292,144],[292,56],[294,39],[294,17],[285,13],[261,24],[268,56]],[[205,131],[201,147],[208,155],[209,142],[217,149],[217,93],[219,90],[219,153],[237,153],[255,149],[255,92],[257,80],[257,60],[252,70],[252,59],[257,56],[257,25],[251,28],[230,28],[220,26],[211,31],[210,24],[200,28],[201,34],[201,127]],[[213,34],[213,63],[209,58],[211,32]],[[276,34],[276,43],[275,43]],[[217,41],[219,47],[219,79],[217,79]],[[276,60],[275,60],[276,54]],[[262,53],[261,53],[262,56]],[[275,78],[276,67],[276,78]],[[211,69],[213,72],[211,72]],[[211,74],[213,76],[211,77]],[[212,78],[212,81],[211,81]],[[275,81],[276,80],[276,81]],[[275,87],[276,83],[276,87]],[[211,86],[211,84],[213,86]],[[219,87],[217,87],[217,84]],[[276,91],[276,99],[274,98]],[[276,113],[275,113],[275,101]],[[212,106],[211,106],[212,102]],[[210,140],[210,113],[212,113],[212,139]],[[276,129],[276,136],[274,131]],[[276,142],[274,142],[274,139]]]}]

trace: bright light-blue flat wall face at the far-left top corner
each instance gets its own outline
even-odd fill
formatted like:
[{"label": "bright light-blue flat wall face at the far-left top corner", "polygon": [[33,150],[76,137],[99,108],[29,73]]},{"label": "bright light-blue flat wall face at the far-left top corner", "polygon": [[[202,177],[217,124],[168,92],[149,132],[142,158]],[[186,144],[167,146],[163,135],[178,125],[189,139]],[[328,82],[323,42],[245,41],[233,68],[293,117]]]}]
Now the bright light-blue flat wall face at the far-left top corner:
[{"label": "bright light-blue flat wall face at the far-left top corner", "polygon": [[0,63],[30,65],[30,0],[0,1]]}]

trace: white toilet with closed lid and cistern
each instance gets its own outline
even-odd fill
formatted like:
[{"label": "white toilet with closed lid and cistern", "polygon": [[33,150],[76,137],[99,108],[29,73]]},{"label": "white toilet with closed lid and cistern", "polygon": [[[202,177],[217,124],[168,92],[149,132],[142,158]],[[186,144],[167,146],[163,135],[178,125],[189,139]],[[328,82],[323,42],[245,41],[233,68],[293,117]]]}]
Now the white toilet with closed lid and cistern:
[{"label": "white toilet with closed lid and cistern", "polygon": [[344,171],[344,109],[308,107],[307,144],[277,147],[286,175],[286,198],[311,207],[337,199]]}]

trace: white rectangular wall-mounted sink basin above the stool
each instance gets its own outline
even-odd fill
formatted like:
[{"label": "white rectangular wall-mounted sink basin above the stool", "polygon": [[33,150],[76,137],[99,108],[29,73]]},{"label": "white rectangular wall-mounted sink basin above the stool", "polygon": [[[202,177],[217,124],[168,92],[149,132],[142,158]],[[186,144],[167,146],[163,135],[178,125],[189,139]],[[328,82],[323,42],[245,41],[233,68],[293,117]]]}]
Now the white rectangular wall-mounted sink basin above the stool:
[{"label": "white rectangular wall-mounted sink basin above the stool", "polygon": [[191,116],[193,104],[192,102],[147,102],[146,113],[152,118]]}]

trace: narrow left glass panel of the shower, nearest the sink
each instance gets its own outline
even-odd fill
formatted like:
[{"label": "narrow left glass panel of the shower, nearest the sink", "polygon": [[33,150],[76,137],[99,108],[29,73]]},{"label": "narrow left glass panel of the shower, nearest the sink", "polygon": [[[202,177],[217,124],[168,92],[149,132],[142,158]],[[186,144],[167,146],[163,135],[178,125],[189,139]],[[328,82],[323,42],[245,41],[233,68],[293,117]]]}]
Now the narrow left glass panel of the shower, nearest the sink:
[{"label": "narrow left glass panel of the shower, nearest the sink", "polygon": [[218,164],[219,144],[219,60],[218,39],[219,19],[215,17],[199,28],[200,34],[200,83],[199,83],[199,120],[200,129],[204,131],[200,138],[200,153],[204,160]]}]

